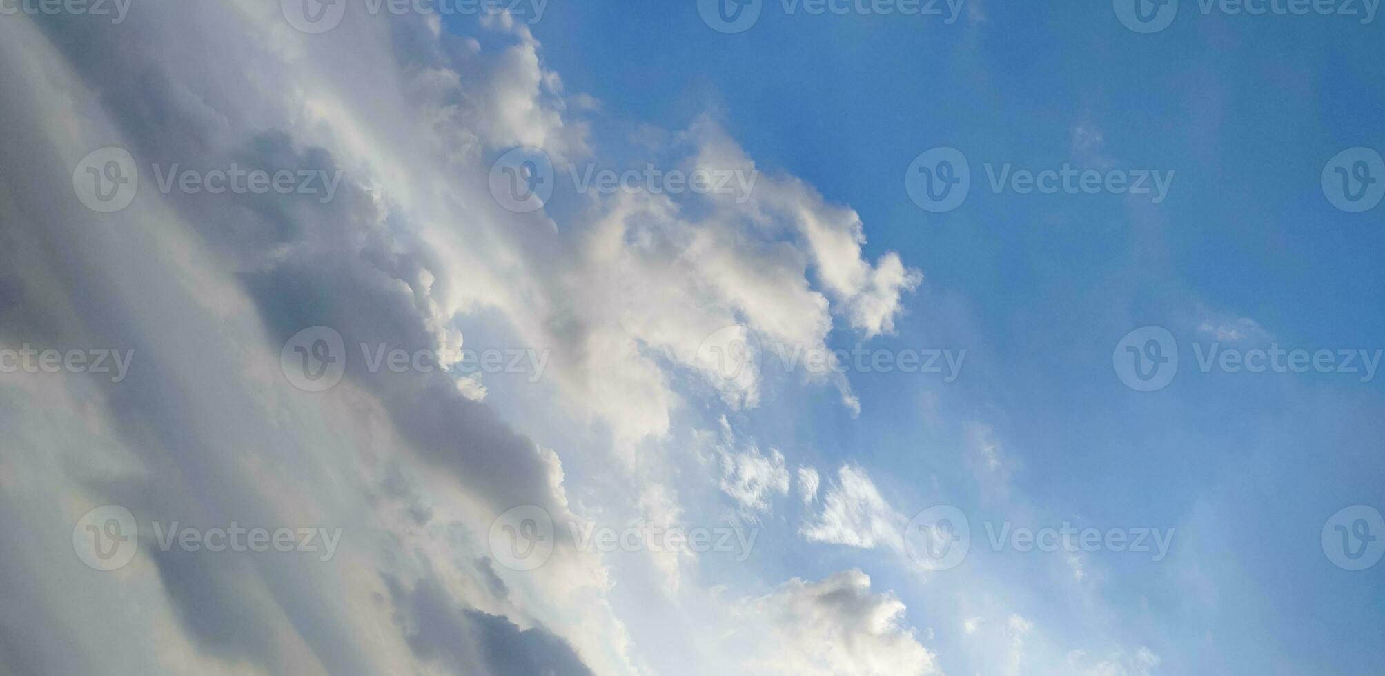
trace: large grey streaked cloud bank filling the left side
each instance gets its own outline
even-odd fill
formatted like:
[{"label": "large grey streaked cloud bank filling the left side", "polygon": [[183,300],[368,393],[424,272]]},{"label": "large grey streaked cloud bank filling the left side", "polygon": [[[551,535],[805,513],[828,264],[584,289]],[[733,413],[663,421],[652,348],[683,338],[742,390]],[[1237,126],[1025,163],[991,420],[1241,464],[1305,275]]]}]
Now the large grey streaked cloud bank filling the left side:
[{"label": "large grey streaked cloud bank filling the left side", "polygon": [[[385,170],[378,176],[360,173],[381,159],[361,154],[384,144],[373,143],[360,118],[313,121],[314,111],[368,116],[373,108],[319,97],[332,89],[321,82],[323,71],[269,65],[285,58],[269,43],[301,39],[274,30],[256,37],[258,26],[281,21],[271,14],[277,7],[253,17],[233,6],[158,10],[126,33],[62,19],[0,25],[0,50],[12,66],[0,83],[7,119],[32,129],[66,121],[68,127],[3,141],[6,237],[25,242],[0,255],[12,281],[7,288],[15,290],[4,309],[4,342],[136,350],[119,386],[79,377],[6,380],[7,400],[30,389],[54,404],[46,414],[51,427],[24,423],[37,421],[30,396],[6,406],[7,428],[14,423],[28,439],[7,465],[48,486],[6,492],[7,513],[28,513],[35,528],[51,533],[71,531],[86,508],[115,503],[145,526],[152,519],[195,528],[328,522],[349,526],[348,535],[334,562],[312,565],[306,557],[165,551],[145,531],[140,555],[108,580],[89,579],[93,571],[72,555],[71,543],[65,555],[47,547],[12,551],[4,557],[0,597],[7,614],[33,610],[40,633],[7,630],[24,636],[25,647],[22,658],[4,661],[32,666],[26,673],[413,672],[418,664],[407,636],[382,630],[389,615],[375,605],[379,585],[357,573],[424,564],[447,572],[438,589],[492,614],[525,618],[529,626],[542,623],[537,616],[565,616],[562,632],[594,655],[591,664],[602,673],[627,672],[620,625],[608,610],[536,603],[553,594],[497,585],[493,571],[488,576],[472,564],[481,560],[475,543],[486,522],[514,501],[543,506],[560,525],[571,518],[553,452],[463,396],[443,373],[396,377],[353,363],[346,381],[316,399],[278,373],[284,339],[313,324],[332,326],[352,342],[460,345],[446,312],[453,301],[434,294],[447,265],[402,208],[407,191],[381,191],[391,162],[371,165]],[[205,64],[170,55],[194,36],[211,53],[238,54],[247,71],[204,72]],[[72,44],[122,58],[64,54]],[[363,40],[359,48],[378,46]],[[375,65],[393,61],[388,51],[374,55],[385,57]],[[260,96],[267,91],[285,97]],[[98,219],[73,198],[71,172],[86,152],[109,144],[130,150],[147,183],[125,212]],[[17,162],[44,190],[17,190],[10,180]],[[349,179],[327,205],[283,195],[163,195],[151,186],[152,163],[348,169]],[[43,272],[58,260],[57,251],[65,252],[65,276]],[[359,357],[349,352],[348,359]],[[54,446],[64,443],[62,429],[89,439],[61,452]],[[410,488],[386,470],[397,463],[382,459],[434,472],[427,489],[447,496],[446,508],[409,500],[396,511],[396,497]],[[443,532],[429,531],[432,522]],[[604,586],[601,569],[566,546],[550,569],[550,589],[571,594]],[[115,579],[120,585],[111,586]],[[82,587],[90,593],[79,612],[51,603]],[[571,622],[583,615],[602,629],[583,634],[576,629],[583,622]],[[130,621],[109,623],[111,616]],[[499,619],[486,622],[499,629],[478,630],[478,641],[508,634]],[[78,636],[129,648],[72,650],[66,639]],[[501,666],[465,673],[504,673]]]}]

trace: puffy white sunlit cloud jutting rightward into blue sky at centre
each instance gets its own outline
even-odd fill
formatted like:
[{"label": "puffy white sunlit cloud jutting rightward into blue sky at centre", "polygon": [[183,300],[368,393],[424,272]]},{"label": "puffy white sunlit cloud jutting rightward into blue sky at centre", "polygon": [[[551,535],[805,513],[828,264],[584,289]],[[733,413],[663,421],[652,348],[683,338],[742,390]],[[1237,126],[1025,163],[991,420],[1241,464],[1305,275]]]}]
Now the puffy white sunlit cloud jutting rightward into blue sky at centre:
[{"label": "puffy white sunlit cloud jutting rightward into blue sky at centre", "polygon": [[[668,434],[679,396],[669,385],[677,373],[665,364],[695,377],[719,373],[717,359],[749,335],[825,350],[834,310],[866,337],[891,332],[902,294],[921,280],[897,255],[875,266],[863,260],[853,211],[792,176],[759,176],[712,119],[701,118],[674,145],[690,148],[674,161],[687,170],[758,176],[749,198],[708,195],[711,209],[697,212],[668,194],[598,198],[597,216],[575,235],[566,284],[548,291],[564,321],[535,321],[565,330],[539,342],[575,346],[557,362],[560,377],[575,402],[612,425],[620,447]],[[720,377],[708,392],[729,407],[760,403],[758,363]],[[814,378],[831,381],[859,411],[843,375]]]}]

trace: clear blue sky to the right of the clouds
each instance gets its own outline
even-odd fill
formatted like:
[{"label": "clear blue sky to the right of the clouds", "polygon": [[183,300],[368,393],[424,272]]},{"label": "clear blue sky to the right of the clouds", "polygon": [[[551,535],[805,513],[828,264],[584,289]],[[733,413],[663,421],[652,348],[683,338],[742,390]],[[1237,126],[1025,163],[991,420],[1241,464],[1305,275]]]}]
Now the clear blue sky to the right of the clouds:
[{"label": "clear blue sky to the right of the clouds", "polygon": [[[765,166],[859,211],[867,251],[918,265],[931,296],[910,298],[882,344],[971,349],[967,378],[932,391],[950,413],[997,428],[1014,490],[1037,514],[1179,528],[1163,565],[1097,561],[1109,618],[1039,582],[1040,562],[997,571],[1039,582],[1008,590],[1026,616],[1150,641],[1168,673],[1374,673],[1381,576],[1331,567],[1317,529],[1334,504],[1385,495],[1370,413],[1379,385],[1213,373],[1143,395],[1112,377],[1109,345],[1125,327],[1190,334],[1213,314],[1251,317],[1285,344],[1379,342],[1385,217],[1342,213],[1317,184],[1338,150],[1385,144],[1378,26],[1186,7],[1170,29],[1140,36],[1102,7],[979,11],[945,25],[788,17],[771,3],[727,36],[691,7],[555,7],[536,35],[550,62],[578,64],[564,69],[568,84],[607,112],[679,126],[716,111]],[[1169,199],[974,193],[929,215],[899,188],[900,168],[936,145],[963,148],[974,170],[976,158],[1080,166],[1078,129],[1098,133],[1116,166],[1174,170]],[[963,435],[918,411],[927,385],[885,374],[853,384],[859,420],[747,423],[819,463],[886,474],[877,483],[910,504],[931,504],[935,477],[964,478]],[[970,490],[949,497],[988,513]],[[845,561],[911,601],[907,573],[870,558]]]}]

